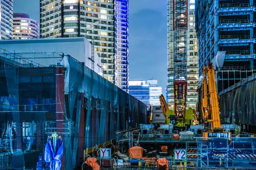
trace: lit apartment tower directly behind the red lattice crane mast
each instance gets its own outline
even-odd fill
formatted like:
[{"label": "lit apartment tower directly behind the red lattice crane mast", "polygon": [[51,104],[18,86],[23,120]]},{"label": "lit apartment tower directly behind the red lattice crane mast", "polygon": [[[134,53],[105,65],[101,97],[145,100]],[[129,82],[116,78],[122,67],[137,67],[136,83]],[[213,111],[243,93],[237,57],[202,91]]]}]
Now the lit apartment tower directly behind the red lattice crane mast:
[{"label": "lit apartment tower directly behind the red lattice crane mast", "polygon": [[[186,107],[195,108],[197,101],[198,48],[195,34],[195,0],[188,3],[188,35],[187,35],[187,101]],[[168,85],[167,103],[174,109],[174,71],[173,71],[173,3],[167,0],[167,36],[168,36]]]}]

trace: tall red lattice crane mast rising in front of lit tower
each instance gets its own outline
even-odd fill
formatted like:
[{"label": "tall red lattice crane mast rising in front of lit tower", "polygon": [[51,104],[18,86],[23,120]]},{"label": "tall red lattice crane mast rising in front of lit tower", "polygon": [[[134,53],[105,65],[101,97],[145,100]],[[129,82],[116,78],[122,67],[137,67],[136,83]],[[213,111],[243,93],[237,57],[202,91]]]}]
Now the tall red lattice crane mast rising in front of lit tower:
[{"label": "tall red lattice crane mast rising in front of lit tower", "polygon": [[185,127],[187,93],[188,1],[173,0],[174,111],[177,126]]}]

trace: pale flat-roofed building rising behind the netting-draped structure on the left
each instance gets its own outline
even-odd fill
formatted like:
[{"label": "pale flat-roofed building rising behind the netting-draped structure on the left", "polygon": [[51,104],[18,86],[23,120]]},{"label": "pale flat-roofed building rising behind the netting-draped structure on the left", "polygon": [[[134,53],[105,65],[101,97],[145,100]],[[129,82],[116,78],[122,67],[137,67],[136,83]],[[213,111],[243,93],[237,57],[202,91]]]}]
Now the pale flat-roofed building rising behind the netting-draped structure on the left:
[{"label": "pale flat-roofed building rising behind the netting-draped structure on the left", "polygon": [[[0,47],[41,65],[59,65],[62,53],[92,68],[92,45],[84,37],[0,41]],[[101,59],[94,51],[94,71],[102,75]]]}]

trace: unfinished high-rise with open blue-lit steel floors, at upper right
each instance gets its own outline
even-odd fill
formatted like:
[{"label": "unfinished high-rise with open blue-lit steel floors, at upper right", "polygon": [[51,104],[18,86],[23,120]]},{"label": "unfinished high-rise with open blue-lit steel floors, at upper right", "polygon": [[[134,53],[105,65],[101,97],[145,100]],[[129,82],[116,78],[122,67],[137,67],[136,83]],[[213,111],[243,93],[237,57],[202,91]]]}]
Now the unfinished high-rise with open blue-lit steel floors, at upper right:
[{"label": "unfinished high-rise with open blue-lit steel floors, at upper right", "polygon": [[256,73],[256,5],[253,0],[202,0],[196,3],[198,65],[215,66],[218,93]]}]

